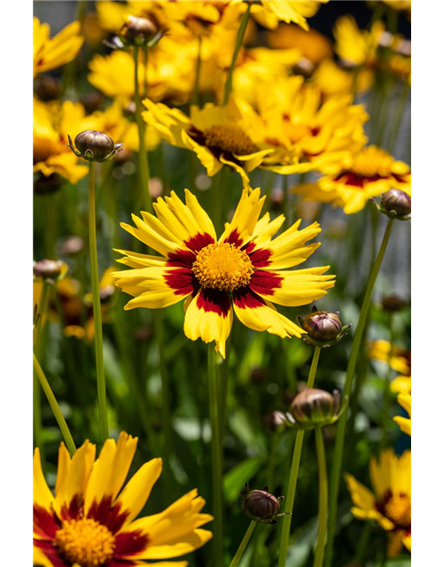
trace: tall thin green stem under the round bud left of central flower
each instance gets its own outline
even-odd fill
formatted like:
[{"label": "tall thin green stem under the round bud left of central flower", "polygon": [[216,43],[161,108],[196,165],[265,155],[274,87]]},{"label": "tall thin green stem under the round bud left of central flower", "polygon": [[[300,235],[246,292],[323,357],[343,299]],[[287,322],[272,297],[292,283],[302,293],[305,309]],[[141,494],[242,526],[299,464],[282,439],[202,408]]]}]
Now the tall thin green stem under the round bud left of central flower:
[{"label": "tall thin green stem under the round bud left of central flower", "polygon": [[96,180],[95,162],[89,162],[89,260],[92,287],[92,310],[94,315],[94,344],[96,347],[98,418],[100,438],[103,443],[109,437],[106,408],[105,363],[103,360],[102,307],[98,279],[97,231],[96,231]]}]

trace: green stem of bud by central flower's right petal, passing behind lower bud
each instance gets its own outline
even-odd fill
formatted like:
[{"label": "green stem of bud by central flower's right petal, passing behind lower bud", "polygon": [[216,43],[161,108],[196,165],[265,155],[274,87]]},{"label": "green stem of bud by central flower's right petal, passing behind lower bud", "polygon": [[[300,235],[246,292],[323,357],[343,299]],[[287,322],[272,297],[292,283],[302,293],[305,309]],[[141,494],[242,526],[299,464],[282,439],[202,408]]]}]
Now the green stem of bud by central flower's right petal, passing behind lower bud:
[{"label": "green stem of bud by central flower's right petal, passing behind lower bud", "polygon": [[[321,348],[315,346],[314,356],[311,362],[311,369],[309,370],[309,377],[307,378],[307,388],[312,388],[315,381],[315,373],[317,371],[318,359],[320,358]],[[278,567],[286,566],[286,557],[288,555],[289,548],[289,534],[291,532],[291,519],[292,519],[292,509],[294,508],[295,491],[297,488],[297,479],[299,478],[299,464],[301,457],[301,449],[303,447],[303,439],[305,437],[305,431],[297,431],[295,438],[294,452],[292,454],[291,462],[291,473],[289,476],[289,485],[286,494],[284,512],[290,514],[290,516],[284,516],[282,518],[282,534],[280,539],[280,552],[278,555]]]}]

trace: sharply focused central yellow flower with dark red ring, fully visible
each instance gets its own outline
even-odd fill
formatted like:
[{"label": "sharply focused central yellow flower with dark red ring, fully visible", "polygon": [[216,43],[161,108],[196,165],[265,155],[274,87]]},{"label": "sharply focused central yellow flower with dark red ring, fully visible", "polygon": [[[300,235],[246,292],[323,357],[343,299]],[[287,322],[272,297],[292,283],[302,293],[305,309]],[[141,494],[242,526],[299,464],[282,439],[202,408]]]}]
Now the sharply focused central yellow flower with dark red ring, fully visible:
[{"label": "sharply focused central yellow flower with dark red ring, fully visible", "polygon": [[154,204],[157,218],[133,215],[136,228],[121,224],[161,254],[118,251],[125,254],[119,261],[134,268],[113,275],[116,285],[134,297],[125,309],[167,307],[185,299],[186,336],[215,341],[223,357],[232,307],[250,329],[300,337],[305,331],[280,315],[273,303],[306,305],[334,285],[334,276],[323,276],[328,267],[286,269],[298,266],[318,248],[318,243],[306,244],[321,231],[318,223],[299,230],[299,221],[272,240],[284,216],[270,221],[265,214],[259,220],[264,198],[259,189],[250,195],[244,190],[232,221],[217,239],[197,198],[189,190],[185,194],[186,204],[175,193],[159,198]]}]

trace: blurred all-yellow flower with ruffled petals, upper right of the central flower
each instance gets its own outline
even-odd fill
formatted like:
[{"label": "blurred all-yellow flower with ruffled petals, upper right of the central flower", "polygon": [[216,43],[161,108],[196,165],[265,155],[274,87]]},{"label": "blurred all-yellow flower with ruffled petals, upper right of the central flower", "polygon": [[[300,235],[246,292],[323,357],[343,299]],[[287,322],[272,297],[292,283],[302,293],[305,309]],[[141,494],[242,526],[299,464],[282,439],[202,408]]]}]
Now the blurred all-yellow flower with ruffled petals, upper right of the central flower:
[{"label": "blurred all-yellow flower with ruffled petals, upper right of the central flower", "polygon": [[263,167],[279,174],[318,169],[327,173],[366,143],[363,123],[368,114],[352,97],[322,102],[322,93],[304,85],[300,76],[280,79],[261,89],[258,113],[265,128],[260,143],[275,151]]}]

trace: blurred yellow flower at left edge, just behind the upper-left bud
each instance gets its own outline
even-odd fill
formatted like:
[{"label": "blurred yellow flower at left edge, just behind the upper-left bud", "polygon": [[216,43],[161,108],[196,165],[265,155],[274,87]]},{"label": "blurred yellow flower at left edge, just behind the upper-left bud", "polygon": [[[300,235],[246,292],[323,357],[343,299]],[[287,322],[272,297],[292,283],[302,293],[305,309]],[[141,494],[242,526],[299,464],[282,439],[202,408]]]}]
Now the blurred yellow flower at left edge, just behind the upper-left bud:
[{"label": "blurred yellow flower at left edge, just behind the upper-left bud", "polygon": [[84,122],[82,105],[66,101],[44,103],[33,99],[33,173],[49,177],[58,174],[71,183],[87,175],[88,167],[66,147],[67,135],[81,132]]}]

